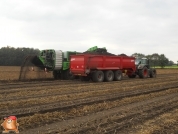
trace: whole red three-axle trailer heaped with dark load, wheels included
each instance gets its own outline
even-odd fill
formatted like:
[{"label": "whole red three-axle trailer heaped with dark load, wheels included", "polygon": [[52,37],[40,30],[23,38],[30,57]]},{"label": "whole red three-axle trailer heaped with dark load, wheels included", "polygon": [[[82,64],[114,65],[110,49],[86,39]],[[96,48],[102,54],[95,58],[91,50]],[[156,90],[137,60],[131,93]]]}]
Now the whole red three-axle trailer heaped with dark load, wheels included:
[{"label": "whole red three-axle trailer heaped with dark load, wheels included", "polygon": [[71,55],[70,71],[82,80],[94,82],[121,80],[122,73],[132,75],[136,71],[135,58],[129,56]]}]

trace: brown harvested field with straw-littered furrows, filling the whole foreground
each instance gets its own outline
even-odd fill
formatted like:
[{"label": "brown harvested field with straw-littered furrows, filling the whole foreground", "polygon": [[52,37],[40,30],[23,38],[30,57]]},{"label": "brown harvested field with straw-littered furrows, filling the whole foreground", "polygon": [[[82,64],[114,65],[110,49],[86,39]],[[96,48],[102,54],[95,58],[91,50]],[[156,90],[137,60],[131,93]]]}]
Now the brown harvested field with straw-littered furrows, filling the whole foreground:
[{"label": "brown harvested field with straw-littered furrows, filling the whole foreground", "polygon": [[178,70],[103,83],[3,80],[0,123],[10,115],[23,134],[177,134]]}]

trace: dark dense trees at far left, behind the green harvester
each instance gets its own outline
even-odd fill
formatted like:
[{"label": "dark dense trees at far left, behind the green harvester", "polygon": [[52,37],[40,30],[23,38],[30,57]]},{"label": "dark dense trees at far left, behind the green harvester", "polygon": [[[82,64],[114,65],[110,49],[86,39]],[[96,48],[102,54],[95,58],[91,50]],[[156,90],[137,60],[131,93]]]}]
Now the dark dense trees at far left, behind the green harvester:
[{"label": "dark dense trees at far left, behind the green harvester", "polygon": [[0,49],[0,66],[21,66],[28,55],[38,55],[38,49],[2,47]]}]

